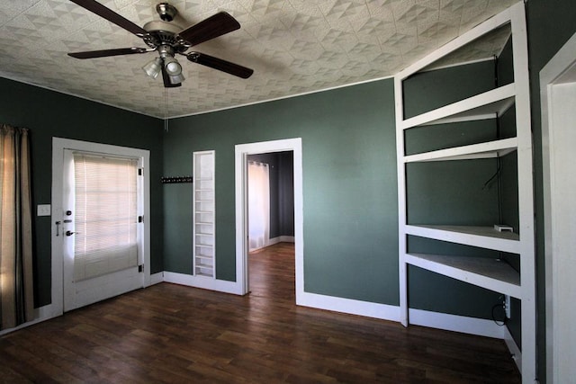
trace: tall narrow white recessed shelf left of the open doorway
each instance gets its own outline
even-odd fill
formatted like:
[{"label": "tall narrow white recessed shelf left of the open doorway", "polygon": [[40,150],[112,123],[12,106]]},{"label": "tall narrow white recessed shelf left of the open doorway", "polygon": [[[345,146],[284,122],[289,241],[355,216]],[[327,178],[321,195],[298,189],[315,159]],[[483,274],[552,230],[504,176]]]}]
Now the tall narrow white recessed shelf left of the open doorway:
[{"label": "tall narrow white recessed shelf left of the open doorway", "polygon": [[193,273],[214,278],[215,262],[214,151],[193,153]]}]

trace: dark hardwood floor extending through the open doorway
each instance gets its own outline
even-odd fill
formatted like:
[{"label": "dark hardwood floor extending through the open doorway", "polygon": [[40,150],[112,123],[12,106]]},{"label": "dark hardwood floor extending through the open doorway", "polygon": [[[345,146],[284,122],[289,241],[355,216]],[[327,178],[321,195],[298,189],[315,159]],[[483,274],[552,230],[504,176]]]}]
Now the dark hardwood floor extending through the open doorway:
[{"label": "dark hardwood floor extending through the open doorway", "polygon": [[293,246],[251,294],[161,283],[0,338],[2,382],[518,383],[500,340],[294,305]]}]

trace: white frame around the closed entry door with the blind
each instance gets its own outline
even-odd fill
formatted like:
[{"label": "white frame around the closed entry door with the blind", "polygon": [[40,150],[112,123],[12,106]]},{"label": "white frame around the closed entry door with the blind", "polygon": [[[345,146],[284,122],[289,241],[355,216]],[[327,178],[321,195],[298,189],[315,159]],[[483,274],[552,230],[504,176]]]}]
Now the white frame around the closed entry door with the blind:
[{"label": "white frame around the closed entry door with the blind", "polygon": [[[143,286],[150,285],[150,177],[149,177],[149,151],[130,147],[118,147],[108,144],[91,143],[87,141],[72,140],[68,138],[52,138],[52,216],[51,216],[51,257],[52,257],[52,304],[58,308],[60,313],[64,309],[64,269],[63,269],[63,235],[60,224],[59,228],[56,222],[64,221],[64,211],[62,209],[63,194],[63,160],[66,149],[76,149],[86,152],[99,153],[123,153],[127,156],[142,157],[144,168],[144,241],[142,244],[142,253],[144,259]],[[58,236],[57,236],[57,231]]]}]

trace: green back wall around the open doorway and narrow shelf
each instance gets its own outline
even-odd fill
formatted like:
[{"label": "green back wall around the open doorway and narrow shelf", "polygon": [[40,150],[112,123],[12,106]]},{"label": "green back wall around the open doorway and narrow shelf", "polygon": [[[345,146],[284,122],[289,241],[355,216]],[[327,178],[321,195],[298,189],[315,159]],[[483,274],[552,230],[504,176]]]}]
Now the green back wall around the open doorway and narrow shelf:
[{"label": "green back wall around the open doorway and narrow shelf", "polygon": [[[478,89],[493,87],[491,63],[454,70]],[[489,81],[478,76],[483,72],[490,74]],[[446,76],[444,71],[435,71],[435,74],[433,79]],[[428,76],[418,78],[410,86],[418,90],[429,79]],[[458,90],[461,83],[448,82],[446,86]],[[393,108],[393,82],[388,79],[171,120],[164,138],[166,174],[190,174],[193,151],[216,151],[217,277],[235,280],[234,146],[300,137],[304,290],[398,305]],[[473,129],[466,129],[473,134]],[[488,124],[487,130],[494,135],[493,123]],[[429,138],[420,141],[428,142]],[[473,173],[482,171],[482,177],[488,179],[496,169],[493,161],[467,165],[473,166],[472,172],[469,166],[455,168],[449,176],[428,178],[425,183],[435,188],[434,196],[442,197],[454,190],[454,183],[466,183]],[[448,210],[462,214],[466,210],[474,212],[493,223],[497,210],[486,213],[486,208],[494,205],[497,195],[493,191],[482,192],[482,183],[474,192],[487,196],[482,204],[473,203],[470,209],[464,209],[466,203],[461,201],[457,208],[448,207]],[[186,184],[169,185],[165,189],[166,271],[192,272],[191,189]],[[429,189],[419,191],[420,196],[428,196],[421,191]],[[435,213],[429,210],[426,200],[420,199],[421,206],[427,208],[420,216],[429,219]],[[415,308],[473,317],[491,316],[491,307],[497,298],[494,292],[416,269],[410,271],[410,276],[410,304]]]}]

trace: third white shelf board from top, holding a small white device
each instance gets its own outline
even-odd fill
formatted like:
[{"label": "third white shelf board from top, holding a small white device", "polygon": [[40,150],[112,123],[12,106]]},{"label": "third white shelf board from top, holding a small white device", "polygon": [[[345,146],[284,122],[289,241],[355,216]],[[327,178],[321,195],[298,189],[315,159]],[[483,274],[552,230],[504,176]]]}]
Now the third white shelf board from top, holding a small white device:
[{"label": "third white shelf board from top, holding a small white device", "polygon": [[520,237],[493,227],[407,225],[406,234],[520,254]]}]

